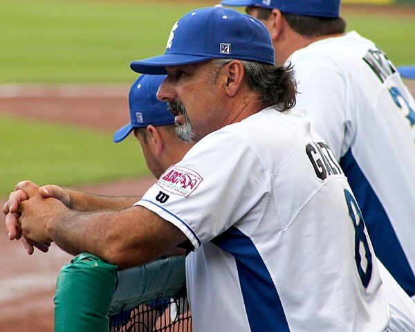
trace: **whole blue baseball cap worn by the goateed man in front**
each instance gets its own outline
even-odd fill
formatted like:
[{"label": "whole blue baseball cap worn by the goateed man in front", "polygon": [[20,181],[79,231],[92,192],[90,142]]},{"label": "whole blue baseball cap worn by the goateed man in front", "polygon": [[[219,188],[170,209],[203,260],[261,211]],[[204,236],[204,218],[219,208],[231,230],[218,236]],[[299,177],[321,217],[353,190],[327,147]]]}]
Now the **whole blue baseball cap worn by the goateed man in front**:
[{"label": "whole blue baseball cap worn by the goateed man in front", "polygon": [[217,5],[188,12],[174,24],[163,55],[133,61],[130,67],[137,73],[157,75],[166,74],[167,66],[213,58],[274,64],[274,48],[264,24]]}]

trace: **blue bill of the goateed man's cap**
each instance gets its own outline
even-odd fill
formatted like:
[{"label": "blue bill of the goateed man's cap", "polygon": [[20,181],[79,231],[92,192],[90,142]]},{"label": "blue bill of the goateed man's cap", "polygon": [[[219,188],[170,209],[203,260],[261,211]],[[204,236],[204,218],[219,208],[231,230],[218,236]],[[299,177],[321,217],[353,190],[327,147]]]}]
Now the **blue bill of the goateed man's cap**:
[{"label": "blue bill of the goateed man's cap", "polygon": [[141,74],[165,75],[167,74],[165,67],[196,64],[197,62],[203,62],[212,58],[213,56],[209,55],[201,56],[170,53],[158,55],[157,57],[149,57],[148,59],[139,61],[133,61],[130,64],[130,68]]}]

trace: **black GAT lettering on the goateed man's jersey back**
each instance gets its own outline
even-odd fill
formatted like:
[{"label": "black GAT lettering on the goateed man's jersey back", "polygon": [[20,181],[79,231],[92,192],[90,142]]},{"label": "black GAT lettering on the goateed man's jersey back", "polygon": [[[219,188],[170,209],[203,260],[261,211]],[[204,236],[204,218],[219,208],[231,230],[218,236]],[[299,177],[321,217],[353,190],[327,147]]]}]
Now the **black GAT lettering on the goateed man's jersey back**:
[{"label": "black GAT lettering on the goateed man's jersey back", "polygon": [[306,154],[313,165],[315,175],[322,180],[327,176],[343,174],[333,152],[324,142],[311,142],[306,145]]}]

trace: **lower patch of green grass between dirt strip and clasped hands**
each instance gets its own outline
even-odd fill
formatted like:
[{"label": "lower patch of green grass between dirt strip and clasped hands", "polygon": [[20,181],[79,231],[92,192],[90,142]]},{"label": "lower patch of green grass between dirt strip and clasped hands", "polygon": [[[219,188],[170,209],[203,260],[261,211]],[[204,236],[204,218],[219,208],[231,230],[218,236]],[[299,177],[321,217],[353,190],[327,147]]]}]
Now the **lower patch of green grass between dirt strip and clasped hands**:
[{"label": "lower patch of green grass between dirt strip and clasped hands", "polygon": [[149,175],[140,145],[111,133],[0,114],[0,197],[21,180],[73,186]]}]

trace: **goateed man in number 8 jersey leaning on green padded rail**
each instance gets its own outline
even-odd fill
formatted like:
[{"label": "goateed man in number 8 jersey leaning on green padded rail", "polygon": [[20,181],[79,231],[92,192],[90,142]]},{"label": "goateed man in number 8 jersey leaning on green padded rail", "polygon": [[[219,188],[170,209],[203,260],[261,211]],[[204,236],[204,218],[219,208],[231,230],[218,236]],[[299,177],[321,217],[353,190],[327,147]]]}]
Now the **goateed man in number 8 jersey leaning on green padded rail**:
[{"label": "goateed man in number 8 jersey leaning on green padded rail", "polygon": [[266,27],[229,8],[193,10],[164,55],[130,66],[167,73],[158,100],[196,144],[133,208],[86,214],[29,190],[8,231],[121,268],[189,240],[194,331],[385,331],[360,210],[331,150],[291,111],[293,71],[274,65]]}]

